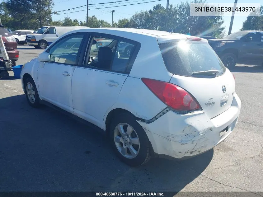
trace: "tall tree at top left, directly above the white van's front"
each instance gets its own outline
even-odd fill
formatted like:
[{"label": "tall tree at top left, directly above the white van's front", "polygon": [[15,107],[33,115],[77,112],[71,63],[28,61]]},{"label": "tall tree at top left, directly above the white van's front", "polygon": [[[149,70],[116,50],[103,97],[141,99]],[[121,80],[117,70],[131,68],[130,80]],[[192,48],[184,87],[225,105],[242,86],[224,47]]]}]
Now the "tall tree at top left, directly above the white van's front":
[{"label": "tall tree at top left, directly above the white van's front", "polygon": [[38,27],[49,25],[52,21],[51,13],[53,0],[32,0],[31,8]]}]

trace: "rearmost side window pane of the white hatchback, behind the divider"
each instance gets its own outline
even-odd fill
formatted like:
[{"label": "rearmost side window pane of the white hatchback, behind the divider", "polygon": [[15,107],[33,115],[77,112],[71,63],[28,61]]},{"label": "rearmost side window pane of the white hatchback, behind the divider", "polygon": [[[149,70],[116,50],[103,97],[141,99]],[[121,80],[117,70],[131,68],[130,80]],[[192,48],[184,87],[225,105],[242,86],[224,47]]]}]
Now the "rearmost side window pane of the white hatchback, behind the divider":
[{"label": "rearmost side window pane of the white hatchback, behind the divider", "polygon": [[117,45],[115,57],[112,63],[111,70],[117,72],[125,72],[132,56],[134,45],[127,42],[119,42]]}]

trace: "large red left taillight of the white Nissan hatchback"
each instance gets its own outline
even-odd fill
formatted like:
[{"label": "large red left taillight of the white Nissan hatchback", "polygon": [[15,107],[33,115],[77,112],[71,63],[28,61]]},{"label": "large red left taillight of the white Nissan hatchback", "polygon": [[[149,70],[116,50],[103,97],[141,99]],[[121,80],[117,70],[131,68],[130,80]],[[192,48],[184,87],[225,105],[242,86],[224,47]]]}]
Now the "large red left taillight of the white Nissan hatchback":
[{"label": "large red left taillight of the white Nissan hatchback", "polygon": [[167,106],[174,110],[197,110],[197,101],[183,88],[172,83],[142,78],[143,83]]}]

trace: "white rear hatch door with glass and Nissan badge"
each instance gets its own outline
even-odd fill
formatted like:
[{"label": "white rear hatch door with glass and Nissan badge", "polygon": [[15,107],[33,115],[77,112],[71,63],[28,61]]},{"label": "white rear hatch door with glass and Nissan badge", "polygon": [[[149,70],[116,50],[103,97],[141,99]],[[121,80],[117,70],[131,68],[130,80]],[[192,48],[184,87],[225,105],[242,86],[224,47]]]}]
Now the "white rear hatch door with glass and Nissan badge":
[{"label": "white rear hatch door with glass and Nissan badge", "polygon": [[207,41],[167,40],[159,47],[167,70],[174,74],[170,83],[195,97],[210,119],[231,106],[234,78]]}]

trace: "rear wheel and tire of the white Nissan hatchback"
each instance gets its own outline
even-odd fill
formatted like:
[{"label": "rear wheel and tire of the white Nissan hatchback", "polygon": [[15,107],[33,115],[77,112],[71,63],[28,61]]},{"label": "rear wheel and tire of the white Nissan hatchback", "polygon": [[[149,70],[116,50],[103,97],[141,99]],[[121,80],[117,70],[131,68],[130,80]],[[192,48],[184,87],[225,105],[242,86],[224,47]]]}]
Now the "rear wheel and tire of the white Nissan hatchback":
[{"label": "rear wheel and tire of the white Nissan hatchback", "polygon": [[119,159],[129,166],[139,166],[151,158],[150,141],[134,116],[116,115],[110,123],[110,143]]}]

